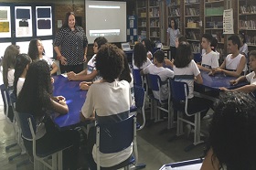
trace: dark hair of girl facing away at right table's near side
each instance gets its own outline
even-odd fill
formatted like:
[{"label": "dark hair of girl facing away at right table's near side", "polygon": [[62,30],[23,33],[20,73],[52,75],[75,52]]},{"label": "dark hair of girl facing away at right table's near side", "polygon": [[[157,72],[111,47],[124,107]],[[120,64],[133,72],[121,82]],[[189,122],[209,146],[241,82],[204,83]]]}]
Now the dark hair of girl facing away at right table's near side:
[{"label": "dark hair of girl facing away at right table's near side", "polygon": [[192,60],[192,50],[189,43],[182,41],[176,48],[176,59],[174,65],[176,68],[185,68]]}]

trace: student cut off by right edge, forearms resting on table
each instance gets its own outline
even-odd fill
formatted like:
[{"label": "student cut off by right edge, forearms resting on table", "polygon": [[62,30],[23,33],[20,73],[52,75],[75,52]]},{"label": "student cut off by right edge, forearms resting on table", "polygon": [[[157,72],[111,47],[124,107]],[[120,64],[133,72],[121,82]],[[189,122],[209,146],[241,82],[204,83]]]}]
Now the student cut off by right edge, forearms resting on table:
[{"label": "student cut off by right edge, forearms resting on table", "polygon": [[[248,81],[250,82],[250,85],[245,85],[243,87],[240,87],[238,89],[234,89],[234,90],[230,90],[230,91],[242,91],[242,92],[253,92],[256,90],[256,77],[255,77],[255,73],[256,73],[256,50],[252,50],[249,54],[249,58],[250,58],[250,68],[252,70],[251,73],[247,74],[246,76],[241,76],[240,78],[238,78],[237,80],[230,80],[230,84],[231,85],[237,85],[238,83],[242,82],[242,81]],[[226,88],[220,88],[220,90],[228,90]]]}]

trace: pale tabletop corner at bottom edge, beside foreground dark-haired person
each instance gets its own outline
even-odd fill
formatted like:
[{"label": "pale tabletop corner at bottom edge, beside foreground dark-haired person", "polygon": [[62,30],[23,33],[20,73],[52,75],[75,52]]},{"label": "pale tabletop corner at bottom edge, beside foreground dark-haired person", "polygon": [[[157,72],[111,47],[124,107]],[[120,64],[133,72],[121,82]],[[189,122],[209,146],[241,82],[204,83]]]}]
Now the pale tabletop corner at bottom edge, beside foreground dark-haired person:
[{"label": "pale tabletop corner at bottom edge, beside foreground dark-haired person", "polygon": [[168,169],[196,170],[196,169],[200,169],[202,162],[203,162],[202,159],[194,159],[189,161],[172,163],[172,164],[163,165],[159,170],[168,170]]}]

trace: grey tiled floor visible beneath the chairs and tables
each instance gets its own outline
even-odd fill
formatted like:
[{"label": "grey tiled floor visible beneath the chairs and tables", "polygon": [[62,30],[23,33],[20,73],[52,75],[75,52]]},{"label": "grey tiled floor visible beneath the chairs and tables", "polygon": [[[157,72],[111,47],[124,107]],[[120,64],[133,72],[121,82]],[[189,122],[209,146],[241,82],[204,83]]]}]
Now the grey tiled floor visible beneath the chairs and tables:
[{"label": "grey tiled floor visible beneath the chairs and tables", "polygon": [[[2,73],[1,73],[2,75]],[[0,84],[2,76],[0,76]],[[11,162],[8,162],[8,156],[16,154],[20,151],[19,147],[13,147],[8,152],[5,152],[5,146],[10,143],[15,143],[15,134],[12,125],[5,121],[3,113],[3,101],[0,97],[0,169],[1,170],[32,170],[31,163],[21,165],[16,168],[16,164],[27,159],[27,156],[17,157]],[[146,116],[149,116],[147,112]],[[184,148],[192,143],[192,137],[187,140],[185,137],[180,137],[173,142],[168,142],[170,136],[175,135],[176,130],[166,131],[159,134],[159,132],[166,127],[166,122],[157,122],[151,126],[146,125],[144,129],[137,134],[139,162],[146,164],[144,170],[157,170],[162,165],[194,159],[203,154],[203,146],[197,146],[189,152],[185,152]]]}]

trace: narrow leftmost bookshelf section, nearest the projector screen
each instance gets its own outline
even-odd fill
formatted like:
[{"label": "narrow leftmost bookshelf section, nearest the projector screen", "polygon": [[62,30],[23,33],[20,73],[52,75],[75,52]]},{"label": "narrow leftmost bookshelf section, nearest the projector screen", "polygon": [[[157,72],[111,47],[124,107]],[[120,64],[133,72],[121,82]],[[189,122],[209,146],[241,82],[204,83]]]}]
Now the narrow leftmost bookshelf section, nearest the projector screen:
[{"label": "narrow leftmost bookshelf section, nearest the projector screen", "polygon": [[137,16],[138,16],[138,37],[143,39],[147,36],[147,0],[137,0]]}]

